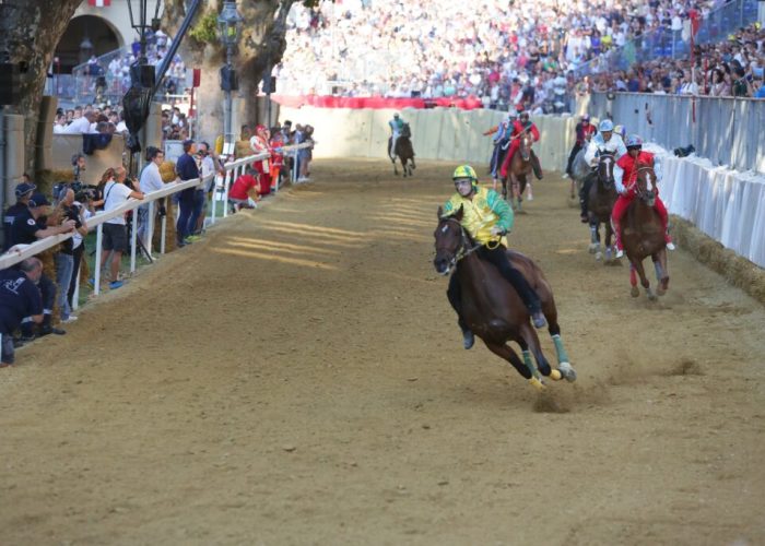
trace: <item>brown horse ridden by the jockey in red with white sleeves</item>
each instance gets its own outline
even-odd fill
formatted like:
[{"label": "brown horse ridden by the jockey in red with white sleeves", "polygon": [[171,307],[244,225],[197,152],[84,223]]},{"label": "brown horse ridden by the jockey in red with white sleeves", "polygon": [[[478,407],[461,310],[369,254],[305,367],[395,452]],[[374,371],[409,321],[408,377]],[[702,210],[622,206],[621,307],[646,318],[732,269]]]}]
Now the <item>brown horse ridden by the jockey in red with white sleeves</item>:
[{"label": "brown horse ridden by the jockey in red with white sleeves", "polygon": [[656,280],[659,283],[657,293],[662,296],[669,287],[669,270],[667,268],[667,242],[664,241],[664,228],[661,226],[659,213],[654,209],[656,201],[656,173],[650,165],[638,163],[637,181],[635,182],[637,197],[624,212],[622,218],[622,245],[629,259],[629,284],[633,297],[639,295],[637,278],[646,289],[648,298],[654,300],[656,295],[650,287],[643,269],[643,260],[651,257],[656,270]]}]

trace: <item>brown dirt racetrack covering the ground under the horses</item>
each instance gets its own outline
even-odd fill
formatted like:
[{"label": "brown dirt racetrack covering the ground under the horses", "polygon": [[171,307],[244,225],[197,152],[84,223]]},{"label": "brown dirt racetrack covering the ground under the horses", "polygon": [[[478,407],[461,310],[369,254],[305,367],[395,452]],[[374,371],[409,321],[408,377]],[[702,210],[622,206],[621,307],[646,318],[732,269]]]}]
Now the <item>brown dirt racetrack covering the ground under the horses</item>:
[{"label": "brown dirt racetrack covering the ground under the horses", "polygon": [[682,250],[631,298],[549,176],[510,241],[579,380],[538,394],[461,348],[452,168],[317,162],[19,351],[0,544],[765,544],[765,309]]}]

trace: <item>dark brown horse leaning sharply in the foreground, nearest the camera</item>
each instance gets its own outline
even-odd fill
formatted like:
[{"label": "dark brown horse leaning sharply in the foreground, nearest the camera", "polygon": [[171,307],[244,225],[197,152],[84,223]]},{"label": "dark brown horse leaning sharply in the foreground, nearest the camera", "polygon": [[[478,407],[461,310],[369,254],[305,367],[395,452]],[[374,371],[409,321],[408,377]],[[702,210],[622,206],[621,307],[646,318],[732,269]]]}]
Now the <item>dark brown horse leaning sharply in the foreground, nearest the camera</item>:
[{"label": "dark brown horse leaning sharply in the foreground, nearest the camera", "polygon": [[[542,312],[548,319],[548,331],[557,353],[557,369],[552,369],[542,354],[537,331],[518,293],[494,264],[479,258],[475,250],[481,245],[476,245],[462,227],[462,212],[460,207],[455,214],[442,217],[443,211],[438,209],[438,226],[434,233],[436,258],[433,264],[442,275],[448,275],[455,269],[461,293],[461,309],[458,312],[466,324],[492,353],[510,363],[532,385],[544,388],[542,376],[574,381],[576,371],[561,341],[557,308],[544,274],[531,259],[520,252],[507,251],[513,266],[523,274],[542,300]],[[520,345],[522,360],[508,345],[511,341]],[[537,367],[531,360],[532,354]]]}]

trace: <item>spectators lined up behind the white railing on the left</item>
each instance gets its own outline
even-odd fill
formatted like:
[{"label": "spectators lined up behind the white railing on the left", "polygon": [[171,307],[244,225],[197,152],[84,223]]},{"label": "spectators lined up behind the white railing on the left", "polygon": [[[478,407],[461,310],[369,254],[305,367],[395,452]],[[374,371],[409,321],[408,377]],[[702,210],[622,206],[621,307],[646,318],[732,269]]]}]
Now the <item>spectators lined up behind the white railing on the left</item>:
[{"label": "spectators lined up behind the white railing on the left", "polygon": [[[78,117],[72,112],[72,122],[76,119],[87,120],[96,108],[78,108]],[[178,111],[166,112],[173,121]],[[108,115],[108,110],[98,111],[98,116]],[[85,122],[82,124],[83,130]],[[298,143],[313,144],[313,127],[285,121],[270,130],[257,126],[250,134],[247,126],[243,127],[242,140],[248,150],[244,154],[268,152],[269,157],[254,162],[247,173],[232,182],[229,203],[235,210],[243,206],[252,207],[255,203],[268,195],[280,185],[290,179],[292,169],[299,174],[301,181],[307,181],[311,158],[310,147],[301,150],[297,157],[286,154],[284,146]],[[68,324],[78,317],[73,314],[73,298],[80,277],[80,269],[85,258],[86,237],[92,226],[89,221],[98,212],[110,212],[130,199],[143,200],[146,193],[157,191],[168,181],[184,181],[201,178],[195,187],[174,195],[179,215],[176,223],[177,247],[185,247],[198,240],[204,232],[207,210],[216,188],[216,175],[224,175],[224,165],[213,146],[207,142],[196,143],[187,139],[184,142],[184,155],[173,165],[165,162],[164,152],[149,146],[145,154],[146,166],[139,177],[128,176],[123,165],[107,168],[97,186],[86,186],[80,177],[87,168],[86,157],[76,154],[72,157],[74,179],[60,182],[52,189],[52,198],[44,194],[24,175],[15,186],[15,203],[3,215],[3,251],[15,251],[23,246],[58,234],[72,234],[72,237],[58,247],[45,251],[36,258],[24,260],[13,268],[0,271],[0,348],[2,349],[0,367],[14,363],[14,347],[28,343],[47,334],[63,335],[61,324]],[[170,176],[165,173],[169,167]],[[219,178],[221,180],[222,178]],[[213,201],[214,202],[214,201]],[[155,212],[158,216],[166,214],[164,200],[157,202]],[[138,238],[145,248],[149,246],[148,226],[149,206],[138,209]],[[117,215],[103,224],[101,263],[94,264],[102,270],[102,275],[110,289],[120,288],[123,277],[120,274],[122,256],[130,245],[130,215]],[[91,241],[90,245],[93,245]],[[49,258],[49,260],[48,260]],[[43,272],[44,262],[48,275]],[[48,266],[50,270],[48,270]],[[56,281],[54,283],[54,280]],[[94,285],[95,276],[89,283]]]}]

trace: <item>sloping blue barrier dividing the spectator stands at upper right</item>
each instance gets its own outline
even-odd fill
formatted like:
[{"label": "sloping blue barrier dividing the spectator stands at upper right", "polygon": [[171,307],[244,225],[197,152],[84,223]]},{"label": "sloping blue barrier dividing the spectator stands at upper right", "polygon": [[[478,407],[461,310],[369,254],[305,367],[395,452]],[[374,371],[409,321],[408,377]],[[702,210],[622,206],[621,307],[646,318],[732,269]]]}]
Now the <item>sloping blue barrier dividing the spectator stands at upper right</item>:
[{"label": "sloping blue barrier dividing the spectator stands at upper right", "polygon": [[[723,41],[729,34],[757,20],[757,0],[734,0],[710,12],[701,21],[694,41],[696,44]],[[627,70],[636,62],[661,57],[686,58],[690,54],[690,43],[683,39],[681,31],[660,27],[591,59],[576,68],[574,73],[577,78],[582,78],[588,74]]]}]

